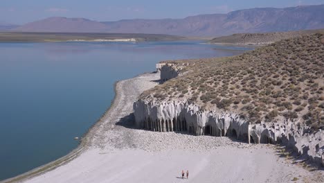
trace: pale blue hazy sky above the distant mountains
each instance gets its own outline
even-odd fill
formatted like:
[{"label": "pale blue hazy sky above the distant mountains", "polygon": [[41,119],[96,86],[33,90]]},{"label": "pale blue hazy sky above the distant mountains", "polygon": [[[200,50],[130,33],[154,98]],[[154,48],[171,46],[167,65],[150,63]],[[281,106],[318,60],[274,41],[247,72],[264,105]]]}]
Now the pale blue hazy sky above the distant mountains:
[{"label": "pale blue hazy sky above the distant mountains", "polygon": [[246,8],[324,4],[324,0],[0,0],[0,21],[25,24],[46,17],[97,21],[183,18]]}]

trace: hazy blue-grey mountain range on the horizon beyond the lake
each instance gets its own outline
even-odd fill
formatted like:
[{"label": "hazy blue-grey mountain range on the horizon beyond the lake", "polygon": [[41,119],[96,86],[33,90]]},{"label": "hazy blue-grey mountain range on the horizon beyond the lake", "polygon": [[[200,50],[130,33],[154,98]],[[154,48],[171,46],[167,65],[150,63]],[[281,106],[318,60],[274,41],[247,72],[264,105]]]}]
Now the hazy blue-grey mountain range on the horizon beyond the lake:
[{"label": "hazy blue-grey mountain range on the horizon beyond the lake", "polygon": [[227,14],[197,15],[185,19],[125,19],[100,22],[83,18],[50,17],[10,30],[61,33],[154,33],[211,37],[234,33],[317,28],[324,28],[324,5],[253,8]]}]

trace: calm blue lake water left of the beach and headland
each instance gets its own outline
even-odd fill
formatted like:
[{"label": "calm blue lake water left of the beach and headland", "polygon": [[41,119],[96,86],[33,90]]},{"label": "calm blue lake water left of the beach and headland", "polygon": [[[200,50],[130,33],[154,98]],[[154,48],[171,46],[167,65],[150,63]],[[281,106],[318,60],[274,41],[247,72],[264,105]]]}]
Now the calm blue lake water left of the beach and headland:
[{"label": "calm blue lake water left of the beach and headland", "polygon": [[161,60],[237,55],[247,48],[198,41],[0,43],[0,180],[78,146],[107,110],[114,82]]}]

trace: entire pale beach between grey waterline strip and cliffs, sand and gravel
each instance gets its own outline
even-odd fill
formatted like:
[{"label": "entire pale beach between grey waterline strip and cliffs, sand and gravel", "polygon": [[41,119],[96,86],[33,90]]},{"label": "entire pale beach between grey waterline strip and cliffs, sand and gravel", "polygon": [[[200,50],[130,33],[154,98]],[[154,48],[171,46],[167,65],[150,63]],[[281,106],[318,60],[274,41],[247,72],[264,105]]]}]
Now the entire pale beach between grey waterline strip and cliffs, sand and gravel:
[{"label": "entire pale beach between grey waterline strip and cliffs, sand and gravel", "polygon": [[132,104],[157,80],[159,73],[146,73],[118,82],[114,104],[89,130],[82,153],[24,182],[324,182],[323,171],[293,164],[274,145],[132,128]]}]

